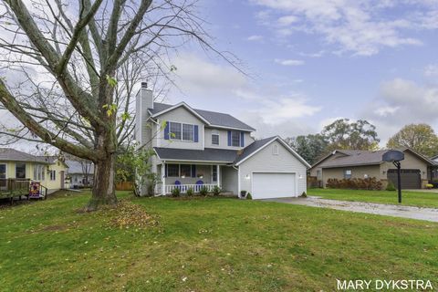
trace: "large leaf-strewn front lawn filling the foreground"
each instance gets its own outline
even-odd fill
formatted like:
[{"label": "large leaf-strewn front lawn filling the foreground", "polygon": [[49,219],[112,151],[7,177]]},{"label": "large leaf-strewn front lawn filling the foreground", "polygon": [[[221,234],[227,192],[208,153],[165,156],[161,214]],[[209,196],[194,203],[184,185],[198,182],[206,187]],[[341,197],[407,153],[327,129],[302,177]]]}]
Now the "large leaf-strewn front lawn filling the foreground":
[{"label": "large leaf-strewn front lawn filling the foreground", "polygon": [[438,287],[438,224],[286,203],[122,196],[160,224],[120,229],[111,213],[78,213],[87,194],[0,209],[0,290],[332,291],[336,278]]}]

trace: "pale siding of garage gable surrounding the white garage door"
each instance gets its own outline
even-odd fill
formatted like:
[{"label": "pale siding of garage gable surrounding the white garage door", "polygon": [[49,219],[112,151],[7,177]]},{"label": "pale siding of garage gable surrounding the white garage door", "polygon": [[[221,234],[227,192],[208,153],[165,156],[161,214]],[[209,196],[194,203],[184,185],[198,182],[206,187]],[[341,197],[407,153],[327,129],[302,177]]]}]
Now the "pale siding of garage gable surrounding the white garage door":
[{"label": "pale siding of garage gable surrounding the white garage door", "polygon": [[[277,145],[278,155],[273,154],[273,147]],[[297,193],[300,195],[306,191],[306,165],[300,162],[294,154],[278,141],[267,145],[254,156],[243,162],[240,166],[240,189],[252,193],[251,181],[253,172],[296,172]],[[249,179],[246,176],[249,175]],[[293,194],[292,194],[293,195]]]}]

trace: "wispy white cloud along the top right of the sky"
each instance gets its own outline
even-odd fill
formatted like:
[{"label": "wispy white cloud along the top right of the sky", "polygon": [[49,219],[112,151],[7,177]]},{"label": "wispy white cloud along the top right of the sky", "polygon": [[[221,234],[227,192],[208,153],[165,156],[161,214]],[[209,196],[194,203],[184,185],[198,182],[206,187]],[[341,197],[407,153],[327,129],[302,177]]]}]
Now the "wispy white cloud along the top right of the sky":
[{"label": "wispy white cloud along the top right of the sky", "polygon": [[[436,1],[252,0],[252,3],[270,11],[262,23],[272,27],[277,36],[287,37],[294,31],[316,34],[335,45],[338,53],[370,56],[383,47],[419,46],[422,40],[409,36],[410,33],[438,28]],[[405,9],[400,9],[402,5]]]}]

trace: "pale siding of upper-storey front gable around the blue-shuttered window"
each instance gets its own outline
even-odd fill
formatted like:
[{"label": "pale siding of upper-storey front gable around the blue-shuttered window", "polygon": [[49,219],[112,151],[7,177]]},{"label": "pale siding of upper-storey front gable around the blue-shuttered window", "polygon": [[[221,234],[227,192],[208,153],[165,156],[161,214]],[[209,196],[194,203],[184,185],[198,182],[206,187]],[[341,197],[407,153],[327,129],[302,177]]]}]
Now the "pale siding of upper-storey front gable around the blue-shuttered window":
[{"label": "pale siding of upper-storey front gable around the blue-shuttered window", "polygon": [[203,150],[203,121],[194,116],[189,110],[180,107],[162,114],[159,119],[161,122],[165,120],[198,126],[198,142],[165,140],[164,130],[161,130],[157,135],[159,147]]}]

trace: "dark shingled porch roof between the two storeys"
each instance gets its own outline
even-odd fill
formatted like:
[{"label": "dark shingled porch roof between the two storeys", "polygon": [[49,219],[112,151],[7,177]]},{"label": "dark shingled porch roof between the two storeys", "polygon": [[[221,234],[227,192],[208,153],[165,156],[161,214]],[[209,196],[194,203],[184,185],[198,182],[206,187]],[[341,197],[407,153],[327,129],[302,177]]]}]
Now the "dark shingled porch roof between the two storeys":
[{"label": "dark shingled porch roof between the two storeys", "polygon": [[202,162],[225,162],[235,161],[237,151],[227,149],[205,148],[202,150],[176,149],[176,148],[153,148],[161,160],[175,161],[202,161]]}]

